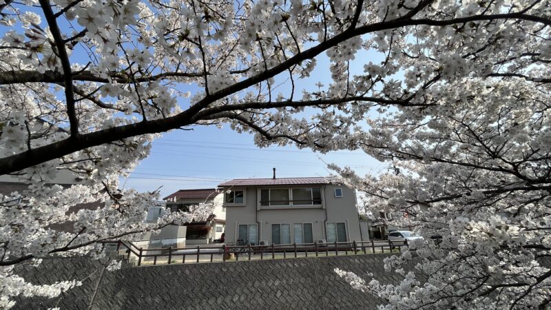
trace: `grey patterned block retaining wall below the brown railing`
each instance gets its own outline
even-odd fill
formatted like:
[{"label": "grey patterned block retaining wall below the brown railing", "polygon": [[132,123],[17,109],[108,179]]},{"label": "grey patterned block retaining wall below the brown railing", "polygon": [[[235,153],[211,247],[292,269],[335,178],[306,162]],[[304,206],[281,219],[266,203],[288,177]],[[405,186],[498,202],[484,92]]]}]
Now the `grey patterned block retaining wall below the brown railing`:
[{"label": "grey patterned block retaining wall below the brown railing", "polygon": [[382,300],[351,289],[333,271],[373,273],[396,283],[386,272],[386,254],[291,258],[245,262],[125,267],[107,271],[89,258],[44,259],[39,267],[19,266],[33,284],[83,280],[52,299],[20,299],[14,309],[375,309]]}]

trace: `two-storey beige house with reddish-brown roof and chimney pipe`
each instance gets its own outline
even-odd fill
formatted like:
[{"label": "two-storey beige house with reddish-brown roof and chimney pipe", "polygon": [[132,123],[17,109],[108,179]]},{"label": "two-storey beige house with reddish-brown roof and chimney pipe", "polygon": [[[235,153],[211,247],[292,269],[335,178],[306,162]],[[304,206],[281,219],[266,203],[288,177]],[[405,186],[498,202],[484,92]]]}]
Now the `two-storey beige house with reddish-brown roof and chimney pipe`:
[{"label": "two-storey beige house with reddish-brown roof and chimney pipe", "polygon": [[[249,178],[218,185],[226,242],[292,244],[361,241],[355,191],[330,178]],[[241,241],[242,240],[242,241]]]}]

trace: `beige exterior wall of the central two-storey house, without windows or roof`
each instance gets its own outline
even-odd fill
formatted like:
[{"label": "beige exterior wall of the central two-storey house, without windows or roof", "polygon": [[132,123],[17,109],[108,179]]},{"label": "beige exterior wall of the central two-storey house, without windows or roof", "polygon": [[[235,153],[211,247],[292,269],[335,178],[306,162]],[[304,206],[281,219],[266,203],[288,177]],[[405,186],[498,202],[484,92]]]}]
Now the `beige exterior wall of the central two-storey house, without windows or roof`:
[{"label": "beige exterior wall of the central two-storey house, without windows or roof", "polygon": [[[313,187],[301,186],[301,187]],[[299,186],[292,186],[299,187]],[[258,240],[267,240],[271,244],[271,225],[290,224],[291,242],[294,241],[295,223],[311,223],[313,240],[326,239],[325,225],[327,222],[346,223],[348,241],[361,241],[360,222],[358,220],[355,192],[344,185],[323,185],[322,205],[264,207],[260,206],[261,188],[287,187],[233,187],[231,190],[245,190],[245,202],[240,205],[225,204],[226,242],[236,242],[238,225],[258,225]],[[342,189],[342,197],[336,198],[335,188]]]}]

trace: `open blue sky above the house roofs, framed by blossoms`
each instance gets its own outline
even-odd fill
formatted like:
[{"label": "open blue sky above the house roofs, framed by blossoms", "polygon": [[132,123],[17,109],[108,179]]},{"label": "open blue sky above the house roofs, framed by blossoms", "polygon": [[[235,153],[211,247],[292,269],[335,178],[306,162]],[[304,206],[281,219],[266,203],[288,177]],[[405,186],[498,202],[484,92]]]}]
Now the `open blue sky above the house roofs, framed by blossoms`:
[{"label": "open blue sky above the house roofs, framed by blossoms", "polygon": [[[353,74],[363,73],[364,63],[380,61],[380,56],[360,52],[352,62]],[[295,81],[298,87],[317,90],[315,83],[331,83],[329,59],[318,56],[318,66],[307,79]],[[278,81],[286,76],[282,74]],[[289,83],[278,90],[286,94]],[[197,87],[191,87],[193,93]],[[300,88],[299,88],[300,90]],[[301,92],[295,92],[300,99]],[[373,114],[372,116],[375,116]],[[388,164],[380,163],[364,152],[339,151],[329,154],[312,152],[296,147],[269,147],[259,149],[251,134],[238,134],[229,125],[218,129],[215,126],[194,127],[192,131],[176,130],[163,134],[153,143],[151,155],[145,159],[121,185],[139,191],[160,188],[161,197],[178,189],[216,187],[231,178],[271,178],[272,168],[278,177],[329,176],[326,163],[348,165],[359,174],[377,174]]]}]

